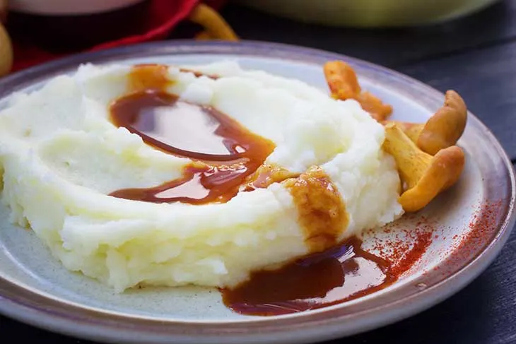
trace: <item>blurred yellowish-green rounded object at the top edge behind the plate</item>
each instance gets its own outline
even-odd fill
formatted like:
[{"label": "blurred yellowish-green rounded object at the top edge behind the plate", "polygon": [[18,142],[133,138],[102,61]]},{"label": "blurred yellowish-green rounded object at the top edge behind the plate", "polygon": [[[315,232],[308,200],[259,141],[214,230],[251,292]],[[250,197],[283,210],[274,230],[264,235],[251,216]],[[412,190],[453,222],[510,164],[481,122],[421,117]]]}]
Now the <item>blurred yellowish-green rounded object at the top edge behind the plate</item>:
[{"label": "blurred yellowish-green rounded object at the top edge behind the plate", "polygon": [[234,0],[306,23],[362,28],[438,23],[498,0]]}]

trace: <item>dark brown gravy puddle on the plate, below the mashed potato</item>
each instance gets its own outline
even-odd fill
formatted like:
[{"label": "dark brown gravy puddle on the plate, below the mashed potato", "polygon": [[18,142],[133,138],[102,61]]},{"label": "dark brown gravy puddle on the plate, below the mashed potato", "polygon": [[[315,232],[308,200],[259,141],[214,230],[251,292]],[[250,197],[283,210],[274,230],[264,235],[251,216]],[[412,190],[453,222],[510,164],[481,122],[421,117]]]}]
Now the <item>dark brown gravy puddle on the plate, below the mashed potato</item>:
[{"label": "dark brown gravy puddle on the plate, below the mashed potato", "polygon": [[339,304],[381,290],[397,278],[385,261],[361,249],[360,239],[311,254],[223,289],[224,304],[249,315],[280,315]]}]

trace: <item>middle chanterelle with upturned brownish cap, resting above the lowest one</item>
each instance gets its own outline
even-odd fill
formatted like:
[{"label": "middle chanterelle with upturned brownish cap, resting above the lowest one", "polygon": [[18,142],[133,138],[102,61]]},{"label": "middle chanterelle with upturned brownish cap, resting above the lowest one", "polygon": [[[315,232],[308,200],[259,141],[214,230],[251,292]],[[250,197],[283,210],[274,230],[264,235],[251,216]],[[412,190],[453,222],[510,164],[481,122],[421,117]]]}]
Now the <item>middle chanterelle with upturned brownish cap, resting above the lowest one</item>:
[{"label": "middle chanterelle with upturned brownish cap, resting above the lowest one", "polygon": [[[396,121],[416,145],[424,152],[435,155],[439,150],[454,146],[464,132],[467,121],[467,107],[462,97],[454,90],[448,90],[445,104],[425,124]],[[387,122],[388,123],[388,122]]]}]

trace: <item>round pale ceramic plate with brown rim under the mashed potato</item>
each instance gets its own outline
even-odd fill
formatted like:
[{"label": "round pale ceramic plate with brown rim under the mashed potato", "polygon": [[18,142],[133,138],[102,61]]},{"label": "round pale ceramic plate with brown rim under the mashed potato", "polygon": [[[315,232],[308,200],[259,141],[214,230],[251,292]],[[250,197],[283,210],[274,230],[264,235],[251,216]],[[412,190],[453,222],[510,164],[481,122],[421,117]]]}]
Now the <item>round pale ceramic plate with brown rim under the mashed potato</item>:
[{"label": "round pale ceramic plate with brown rim under the mashed potato", "polygon": [[[322,65],[344,59],[356,69],[363,88],[394,107],[394,119],[425,121],[443,101],[442,93],[418,81],[338,54],[259,42],[184,41],[81,54],[16,73],[0,81],[0,108],[6,107],[11,92],[40,88],[81,63],[191,65],[220,59],[238,60],[245,68],[298,78],[324,90]],[[6,208],[0,208],[0,312],[80,338],[146,343],[310,343],[399,321],[479,275],[514,224],[515,178],[496,138],[469,114],[459,145],[467,153],[467,165],[452,189],[389,230],[366,233],[364,246],[374,254],[396,256],[400,252],[392,251],[395,247],[424,251],[396,283],[379,292],[283,316],[242,316],[223,305],[217,290],[196,287],[115,294],[95,280],[66,271],[33,232],[11,225]],[[429,233],[423,243],[418,231]]]}]

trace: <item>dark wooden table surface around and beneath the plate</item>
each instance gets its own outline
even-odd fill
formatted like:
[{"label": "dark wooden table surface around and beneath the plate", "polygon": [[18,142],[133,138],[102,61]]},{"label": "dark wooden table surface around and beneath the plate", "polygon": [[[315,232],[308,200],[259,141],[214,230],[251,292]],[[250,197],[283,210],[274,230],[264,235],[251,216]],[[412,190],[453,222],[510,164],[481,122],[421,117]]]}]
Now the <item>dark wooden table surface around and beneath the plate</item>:
[{"label": "dark wooden table surface around and beneath the plate", "polygon": [[[223,16],[242,39],[339,52],[441,91],[455,89],[516,161],[516,0],[440,25],[390,30],[305,25],[233,4]],[[19,342],[90,343],[0,316],[0,338],[10,333]],[[516,343],[516,230],[498,259],[455,296],[397,324],[328,344],[376,342]]]}]

